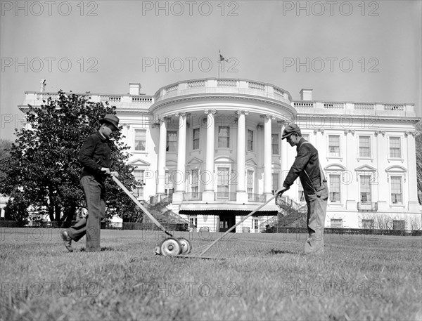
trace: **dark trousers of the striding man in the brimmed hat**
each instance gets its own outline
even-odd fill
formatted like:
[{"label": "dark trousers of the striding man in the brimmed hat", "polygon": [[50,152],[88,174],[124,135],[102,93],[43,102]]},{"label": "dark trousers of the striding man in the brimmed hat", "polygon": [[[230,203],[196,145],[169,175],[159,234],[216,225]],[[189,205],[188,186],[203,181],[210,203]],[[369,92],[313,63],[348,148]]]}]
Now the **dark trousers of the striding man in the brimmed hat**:
[{"label": "dark trousers of the striding man in the brimmed hat", "polygon": [[75,242],[87,235],[85,250],[101,251],[101,219],[106,216],[106,188],[103,184],[98,183],[93,176],[83,176],[81,185],[87,202],[88,214],[86,218],[82,218],[68,228],[68,234]]}]

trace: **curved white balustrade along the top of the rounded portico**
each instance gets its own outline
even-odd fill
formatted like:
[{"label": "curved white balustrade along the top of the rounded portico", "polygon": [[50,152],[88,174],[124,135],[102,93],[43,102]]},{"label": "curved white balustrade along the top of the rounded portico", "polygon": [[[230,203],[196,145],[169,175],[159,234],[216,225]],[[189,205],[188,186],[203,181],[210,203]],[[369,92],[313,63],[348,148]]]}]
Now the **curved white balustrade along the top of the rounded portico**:
[{"label": "curved white balustrade along the top of the rounded portico", "polygon": [[155,103],[168,98],[188,96],[195,94],[234,94],[249,95],[262,98],[278,100],[281,103],[290,105],[292,98],[288,91],[271,84],[247,79],[191,79],[179,81],[174,84],[162,87],[154,95]]}]

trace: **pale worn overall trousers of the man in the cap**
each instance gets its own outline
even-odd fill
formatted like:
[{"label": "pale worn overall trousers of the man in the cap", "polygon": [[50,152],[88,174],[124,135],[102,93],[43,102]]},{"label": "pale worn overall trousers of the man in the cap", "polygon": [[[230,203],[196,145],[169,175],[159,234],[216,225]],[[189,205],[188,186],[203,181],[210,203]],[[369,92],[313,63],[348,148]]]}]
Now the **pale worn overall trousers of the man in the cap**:
[{"label": "pale worn overall trousers of the man in the cap", "polygon": [[308,238],[305,243],[305,254],[324,253],[324,225],[328,202],[328,185],[322,183],[321,188],[311,195],[306,195]]}]

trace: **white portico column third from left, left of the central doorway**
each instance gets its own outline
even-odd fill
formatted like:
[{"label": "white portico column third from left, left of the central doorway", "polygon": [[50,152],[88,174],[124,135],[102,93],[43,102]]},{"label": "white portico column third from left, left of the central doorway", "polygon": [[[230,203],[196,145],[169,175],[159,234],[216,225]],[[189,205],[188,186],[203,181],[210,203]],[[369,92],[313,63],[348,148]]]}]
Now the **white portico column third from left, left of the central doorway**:
[{"label": "white portico column third from left, left of the central doorway", "polygon": [[214,133],[216,112],[217,110],[205,110],[205,114],[207,114],[207,149],[205,154],[205,173],[201,173],[201,179],[205,183],[204,192],[212,192],[212,197],[214,197]]}]

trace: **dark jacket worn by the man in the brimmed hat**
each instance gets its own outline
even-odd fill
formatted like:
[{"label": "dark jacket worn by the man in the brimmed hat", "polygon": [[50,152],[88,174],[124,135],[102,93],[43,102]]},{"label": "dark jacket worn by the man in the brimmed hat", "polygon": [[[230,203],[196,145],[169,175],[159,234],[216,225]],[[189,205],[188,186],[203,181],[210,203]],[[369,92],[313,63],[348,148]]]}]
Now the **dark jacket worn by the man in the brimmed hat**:
[{"label": "dark jacket worn by the man in the brimmed hat", "polygon": [[110,168],[109,140],[103,138],[97,131],[85,140],[79,152],[79,162],[84,166],[81,178],[92,175],[99,183],[106,180],[106,174],[101,171],[102,167]]}]

